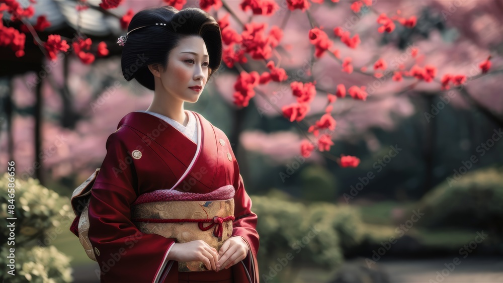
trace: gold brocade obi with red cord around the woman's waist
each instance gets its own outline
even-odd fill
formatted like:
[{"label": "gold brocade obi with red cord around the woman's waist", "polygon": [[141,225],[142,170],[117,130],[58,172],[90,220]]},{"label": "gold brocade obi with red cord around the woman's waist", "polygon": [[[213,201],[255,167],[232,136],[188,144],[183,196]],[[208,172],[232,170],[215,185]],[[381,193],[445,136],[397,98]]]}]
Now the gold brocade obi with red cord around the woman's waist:
[{"label": "gold brocade obi with red cord around the woman's waist", "polygon": [[[177,243],[203,240],[217,252],[232,235],[234,193],[226,185],[207,194],[157,190],[133,203],[131,220],[143,233],[176,238]],[[179,271],[205,271],[200,261],[179,262]]]}]

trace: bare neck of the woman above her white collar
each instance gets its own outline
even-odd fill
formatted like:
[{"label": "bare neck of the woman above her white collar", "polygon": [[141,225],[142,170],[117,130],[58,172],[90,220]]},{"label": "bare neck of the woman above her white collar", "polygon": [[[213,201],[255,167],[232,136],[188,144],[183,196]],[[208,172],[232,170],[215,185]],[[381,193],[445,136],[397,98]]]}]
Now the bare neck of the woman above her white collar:
[{"label": "bare neck of the woman above her white collar", "polygon": [[187,126],[189,117],[185,114],[184,101],[169,100],[170,96],[159,96],[154,93],[154,99],[147,111],[155,112],[171,118],[178,123]]}]

